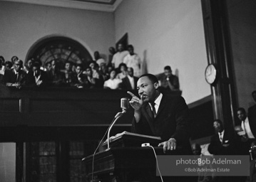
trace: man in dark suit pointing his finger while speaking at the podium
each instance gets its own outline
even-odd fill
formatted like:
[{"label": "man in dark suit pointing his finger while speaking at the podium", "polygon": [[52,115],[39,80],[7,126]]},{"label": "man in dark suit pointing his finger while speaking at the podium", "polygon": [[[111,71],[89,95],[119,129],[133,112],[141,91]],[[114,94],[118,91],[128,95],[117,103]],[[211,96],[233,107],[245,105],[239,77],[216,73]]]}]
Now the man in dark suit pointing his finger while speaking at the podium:
[{"label": "man in dark suit pointing his finger while speaking at the podium", "polygon": [[139,97],[132,96],[133,132],[161,137],[163,151],[178,149],[179,154],[192,154],[189,137],[188,106],[181,96],[163,95],[155,75],[141,75],[137,82]]}]

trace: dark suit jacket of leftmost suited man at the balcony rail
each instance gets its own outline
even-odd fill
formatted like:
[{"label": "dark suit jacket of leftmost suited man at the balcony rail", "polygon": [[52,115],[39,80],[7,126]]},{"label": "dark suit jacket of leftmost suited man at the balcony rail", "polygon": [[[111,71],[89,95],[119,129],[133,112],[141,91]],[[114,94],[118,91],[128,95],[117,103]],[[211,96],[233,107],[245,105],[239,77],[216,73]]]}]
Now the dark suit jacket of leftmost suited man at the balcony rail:
[{"label": "dark suit jacket of leftmost suited man at the balcony rail", "polygon": [[5,70],[3,82],[4,82],[4,84],[20,82],[21,85],[24,85],[26,82],[26,72],[24,72],[24,70],[20,70],[19,78],[17,80],[17,75],[14,71],[14,68],[11,70]]}]

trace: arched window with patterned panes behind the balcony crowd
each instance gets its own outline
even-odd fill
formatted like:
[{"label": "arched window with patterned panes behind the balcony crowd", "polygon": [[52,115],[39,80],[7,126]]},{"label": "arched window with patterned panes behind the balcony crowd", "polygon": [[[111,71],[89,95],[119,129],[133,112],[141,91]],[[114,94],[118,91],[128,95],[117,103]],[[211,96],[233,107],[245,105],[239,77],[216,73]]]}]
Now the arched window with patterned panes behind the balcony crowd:
[{"label": "arched window with patterned panes behind the balcony crowd", "polygon": [[61,36],[45,38],[34,45],[29,51],[27,60],[31,58],[40,60],[42,66],[51,60],[56,60],[61,68],[66,61],[86,65],[88,61],[92,60],[90,53],[81,43]]}]

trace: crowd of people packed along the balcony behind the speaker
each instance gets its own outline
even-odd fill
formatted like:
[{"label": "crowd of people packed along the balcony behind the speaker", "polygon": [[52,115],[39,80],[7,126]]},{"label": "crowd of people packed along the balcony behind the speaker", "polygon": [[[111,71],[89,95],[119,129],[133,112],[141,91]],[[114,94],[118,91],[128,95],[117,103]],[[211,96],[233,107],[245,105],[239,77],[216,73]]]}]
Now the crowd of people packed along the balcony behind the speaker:
[{"label": "crowd of people packed along the balcony behind the speaker", "polygon": [[[60,60],[47,63],[31,58],[24,64],[17,56],[11,61],[0,56],[0,82],[9,87],[78,87],[104,88],[111,90],[135,90],[141,73],[140,57],[134,53],[133,45],[124,50],[122,43],[118,51],[109,48],[108,61],[94,52],[94,60],[86,64],[66,61],[61,68]],[[170,66],[158,75],[164,89],[179,90],[178,77],[171,74]]]}]

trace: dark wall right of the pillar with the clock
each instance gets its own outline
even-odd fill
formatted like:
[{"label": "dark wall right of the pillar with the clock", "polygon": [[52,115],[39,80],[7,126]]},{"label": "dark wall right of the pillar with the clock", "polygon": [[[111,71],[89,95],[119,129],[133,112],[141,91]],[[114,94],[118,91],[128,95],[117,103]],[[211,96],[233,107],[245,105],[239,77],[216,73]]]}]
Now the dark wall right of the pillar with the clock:
[{"label": "dark wall right of the pillar with the clock", "polygon": [[229,0],[232,59],[238,107],[255,105],[252,91],[256,90],[256,1]]}]

